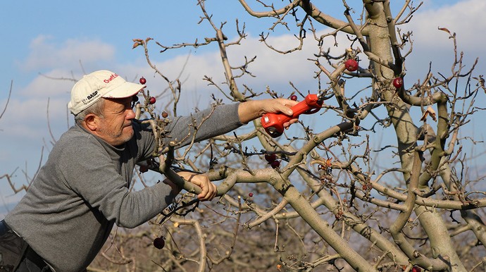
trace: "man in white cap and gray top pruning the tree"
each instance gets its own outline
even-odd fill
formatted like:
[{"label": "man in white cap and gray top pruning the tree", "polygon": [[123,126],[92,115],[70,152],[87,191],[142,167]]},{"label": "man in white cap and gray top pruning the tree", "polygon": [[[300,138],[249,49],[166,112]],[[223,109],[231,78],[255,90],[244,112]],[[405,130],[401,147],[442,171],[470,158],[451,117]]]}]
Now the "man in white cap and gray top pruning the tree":
[{"label": "man in white cap and gray top pruning the tree", "polygon": [[[133,122],[132,99],[144,87],[108,70],[85,75],[74,85],[68,107],[75,125],[56,142],[23,199],[0,222],[0,271],[85,271],[114,224],[135,228],[173,201],[180,188],[167,180],[129,190],[135,163],[149,159],[156,146],[151,130]],[[166,127],[164,144],[184,146],[194,133],[196,141],[205,140],[267,112],[292,115],[294,104],[247,101],[177,117]],[[197,131],[189,125],[194,119],[204,120]],[[202,201],[216,196],[206,175],[179,175],[201,187]]]}]

